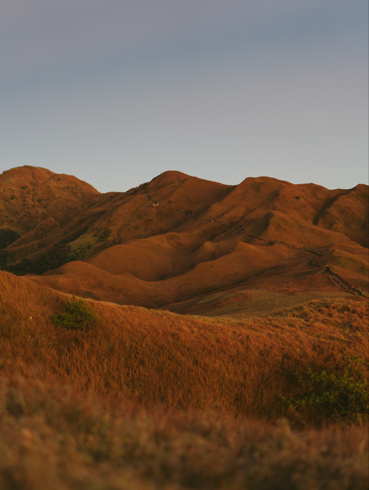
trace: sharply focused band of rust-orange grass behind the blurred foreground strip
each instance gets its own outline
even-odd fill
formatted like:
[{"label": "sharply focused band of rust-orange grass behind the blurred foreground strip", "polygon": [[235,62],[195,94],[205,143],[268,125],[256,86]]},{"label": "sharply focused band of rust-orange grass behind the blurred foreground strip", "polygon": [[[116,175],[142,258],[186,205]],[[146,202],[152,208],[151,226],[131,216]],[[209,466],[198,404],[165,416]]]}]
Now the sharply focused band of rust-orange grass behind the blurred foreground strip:
[{"label": "sharply focused band of rust-orange grass behind the blurred foreground strip", "polygon": [[[313,302],[289,316],[222,323],[89,301],[104,323],[75,332],[51,320],[64,298],[1,273],[4,375],[73,384],[109,403],[212,406],[270,421],[285,415],[276,400],[298,393],[296,373],[334,369],[343,347],[368,361],[363,303]],[[321,421],[315,415],[310,424]]]}]

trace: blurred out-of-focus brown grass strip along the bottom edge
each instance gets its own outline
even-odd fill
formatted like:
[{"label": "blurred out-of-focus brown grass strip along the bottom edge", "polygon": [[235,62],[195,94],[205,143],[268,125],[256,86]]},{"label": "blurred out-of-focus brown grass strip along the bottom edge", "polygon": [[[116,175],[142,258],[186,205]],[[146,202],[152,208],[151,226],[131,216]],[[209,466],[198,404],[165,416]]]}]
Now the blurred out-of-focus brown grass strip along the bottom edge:
[{"label": "blurred out-of-focus brown grass strip along the bottom edge", "polygon": [[3,385],[3,489],[332,489],[368,487],[368,427],[295,432],[216,411],[114,412],[72,388]]}]

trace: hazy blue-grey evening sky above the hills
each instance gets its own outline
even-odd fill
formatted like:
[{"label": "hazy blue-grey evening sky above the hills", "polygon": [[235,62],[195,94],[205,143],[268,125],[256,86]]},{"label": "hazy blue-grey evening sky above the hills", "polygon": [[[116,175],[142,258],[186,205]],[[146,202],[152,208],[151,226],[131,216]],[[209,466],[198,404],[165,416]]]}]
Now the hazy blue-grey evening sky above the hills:
[{"label": "hazy blue-grey evening sky above the hills", "polygon": [[368,183],[367,0],[0,0],[0,173]]}]

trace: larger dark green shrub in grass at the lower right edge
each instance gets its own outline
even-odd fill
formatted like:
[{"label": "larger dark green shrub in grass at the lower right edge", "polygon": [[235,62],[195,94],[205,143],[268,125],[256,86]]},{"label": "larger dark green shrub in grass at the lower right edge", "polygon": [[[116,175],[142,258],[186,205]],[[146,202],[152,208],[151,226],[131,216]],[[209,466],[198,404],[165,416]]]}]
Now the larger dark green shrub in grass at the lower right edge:
[{"label": "larger dark green shrub in grass at the lower right edge", "polygon": [[357,422],[368,419],[368,383],[362,372],[365,361],[359,356],[340,354],[339,365],[332,372],[314,373],[310,368],[298,376],[303,386],[299,399],[283,398],[298,411],[316,408],[330,420]]}]

